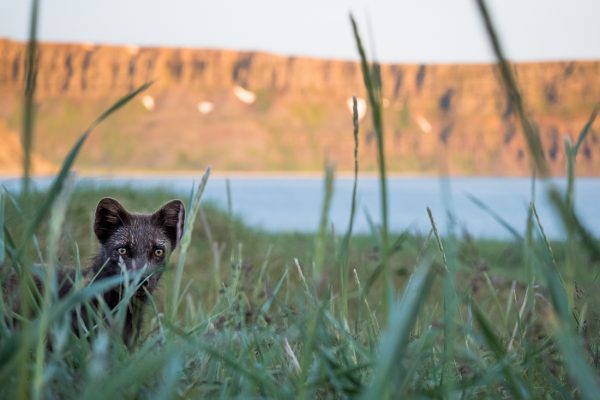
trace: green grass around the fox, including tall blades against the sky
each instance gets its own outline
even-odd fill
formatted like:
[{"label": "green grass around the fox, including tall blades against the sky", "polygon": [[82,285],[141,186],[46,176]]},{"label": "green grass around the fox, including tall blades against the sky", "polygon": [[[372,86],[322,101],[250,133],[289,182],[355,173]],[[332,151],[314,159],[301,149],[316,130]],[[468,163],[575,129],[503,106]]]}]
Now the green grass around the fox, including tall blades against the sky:
[{"label": "green grass around the fox, including tall blades against the sky", "polygon": [[[535,125],[526,120],[525,102],[494,39],[485,4],[478,4],[507,95],[522,108],[518,116],[533,170],[544,176]],[[36,7],[34,2],[33,49]],[[69,174],[96,125],[144,85],[83,132],[47,192],[28,184],[27,157],[23,191],[0,191],[1,397],[597,397],[600,246],[573,209],[575,160],[595,112],[579,137],[566,142],[567,193],[545,181],[541,188],[553,196],[565,241],[547,240],[534,203],[526,232],[513,232],[510,242],[458,238],[452,230],[444,235],[430,210],[429,235],[394,235],[386,225],[381,82],[354,22],[353,27],[374,110],[382,226],[373,224],[370,235],[353,234],[353,208],[346,234],[329,231],[335,188],[328,167],[318,233],[267,234],[202,202],[203,187],[210,184],[207,171],[198,187],[190,188],[182,245],[146,307],[142,338],[127,347],[119,332],[124,303],[115,310],[87,308],[123,278],[77,281],[71,293],[58,296],[56,274],[67,266],[81,271],[93,255],[91,212],[99,198],[117,197],[129,209],[149,211],[173,196],[82,187]],[[35,63],[28,68],[27,76],[35,76]],[[35,138],[32,84],[24,96],[26,154]],[[450,201],[445,211],[451,215]],[[34,274],[45,282],[43,288],[31,284]],[[8,291],[15,276],[18,290]],[[69,316],[82,309],[91,313],[93,324],[77,336]]]}]

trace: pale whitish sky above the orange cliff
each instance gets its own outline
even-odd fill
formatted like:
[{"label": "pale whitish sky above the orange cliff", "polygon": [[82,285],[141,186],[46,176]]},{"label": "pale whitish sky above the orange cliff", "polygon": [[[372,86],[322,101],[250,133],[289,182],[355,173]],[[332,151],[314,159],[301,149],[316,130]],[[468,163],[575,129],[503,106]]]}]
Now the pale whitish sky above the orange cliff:
[{"label": "pale whitish sky above the orange cliff", "polygon": [[[509,58],[600,59],[599,0],[488,0]],[[25,39],[31,0],[0,0]],[[210,47],[356,59],[349,13],[383,62],[493,59],[474,0],[47,0],[47,41]]]}]

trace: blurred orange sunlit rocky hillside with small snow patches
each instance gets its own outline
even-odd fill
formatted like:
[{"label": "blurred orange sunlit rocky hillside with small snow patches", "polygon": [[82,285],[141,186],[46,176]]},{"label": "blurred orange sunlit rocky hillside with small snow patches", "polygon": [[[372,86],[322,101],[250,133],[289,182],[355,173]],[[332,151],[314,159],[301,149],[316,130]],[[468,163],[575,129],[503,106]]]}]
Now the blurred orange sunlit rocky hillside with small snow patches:
[{"label": "blurred orange sunlit rocky hillside with small snow patches", "polygon": [[[25,45],[0,40],[0,121],[20,124]],[[114,99],[153,80],[146,98],[90,138],[81,171],[199,169],[320,171],[352,168],[347,102],[364,98],[350,61],[224,50],[91,44],[40,46],[36,149],[58,164]],[[600,103],[600,62],[515,66],[548,160],[563,174],[565,135]],[[528,161],[492,65],[382,65],[386,149],[396,173],[525,175]],[[361,120],[361,169],[376,168],[369,110]],[[598,124],[578,172],[600,172]]]}]

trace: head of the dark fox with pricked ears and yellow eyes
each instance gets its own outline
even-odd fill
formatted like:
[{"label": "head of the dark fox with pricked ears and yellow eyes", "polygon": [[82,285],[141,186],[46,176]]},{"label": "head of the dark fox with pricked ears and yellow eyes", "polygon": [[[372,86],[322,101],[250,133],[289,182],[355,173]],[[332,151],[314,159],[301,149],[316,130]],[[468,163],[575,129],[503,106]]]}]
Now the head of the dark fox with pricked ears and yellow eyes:
[{"label": "head of the dark fox with pricked ears and yellow eyes", "polygon": [[152,290],[160,270],[181,239],[185,208],[172,200],[153,214],[128,212],[117,200],[104,198],[96,207],[94,233],[100,242],[96,265],[113,275],[124,264],[128,271],[144,269]]}]

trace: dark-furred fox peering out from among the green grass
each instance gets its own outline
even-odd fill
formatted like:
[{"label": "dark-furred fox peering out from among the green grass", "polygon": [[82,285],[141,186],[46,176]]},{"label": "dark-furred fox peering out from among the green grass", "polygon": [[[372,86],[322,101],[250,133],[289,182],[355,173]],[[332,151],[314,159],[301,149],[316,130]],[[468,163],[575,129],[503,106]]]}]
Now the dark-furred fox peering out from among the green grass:
[{"label": "dark-furred fox peering out from among the green grass", "polygon": [[[181,239],[184,220],[185,208],[179,200],[166,203],[153,214],[130,213],[111,198],[100,200],[96,207],[94,233],[100,246],[92,265],[84,271],[84,276],[99,281],[120,275],[123,268],[132,274],[142,273],[142,283],[127,304],[123,339],[128,345],[132,345],[139,335],[148,293],[156,289],[162,269]],[[14,289],[18,285],[16,279],[13,276],[5,284]],[[72,273],[62,271],[59,282],[59,296],[63,297],[73,287]],[[43,290],[43,282],[39,277],[34,276],[34,284],[40,292]],[[123,299],[124,286],[121,284],[102,294],[106,306],[111,310]],[[91,306],[97,308],[98,301],[93,300]],[[91,321],[85,309],[81,309],[81,315],[84,322],[89,324]],[[79,332],[75,313],[72,325],[74,331]]]}]

